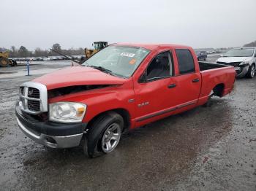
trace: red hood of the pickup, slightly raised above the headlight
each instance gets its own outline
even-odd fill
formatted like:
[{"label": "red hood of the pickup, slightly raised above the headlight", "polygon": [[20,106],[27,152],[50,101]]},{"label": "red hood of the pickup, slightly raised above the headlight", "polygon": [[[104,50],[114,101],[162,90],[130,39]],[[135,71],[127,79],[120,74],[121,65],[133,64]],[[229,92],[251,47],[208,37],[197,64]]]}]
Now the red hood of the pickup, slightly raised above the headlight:
[{"label": "red hood of the pickup, slightly raised above the headlight", "polygon": [[48,90],[52,90],[75,85],[121,85],[125,80],[90,67],[73,66],[53,71],[32,82],[41,83],[46,85]]}]

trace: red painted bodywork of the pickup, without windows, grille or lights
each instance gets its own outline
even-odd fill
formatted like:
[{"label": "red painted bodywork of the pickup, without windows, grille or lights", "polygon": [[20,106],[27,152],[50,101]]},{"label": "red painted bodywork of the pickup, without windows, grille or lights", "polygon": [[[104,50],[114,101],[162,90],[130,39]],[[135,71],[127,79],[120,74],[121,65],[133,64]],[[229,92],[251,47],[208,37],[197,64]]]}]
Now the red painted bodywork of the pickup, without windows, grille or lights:
[{"label": "red painted bodywork of the pickup, without windows, grille or lights", "polygon": [[[96,69],[77,66],[47,74],[34,79],[34,82],[46,85],[48,90],[72,85],[115,85],[59,96],[50,99],[49,103],[56,101],[77,101],[86,104],[87,110],[83,122],[89,122],[102,112],[112,109],[125,109],[130,115],[130,128],[139,127],[148,122],[153,122],[171,114],[184,112],[195,106],[205,104],[208,100],[208,95],[216,85],[224,85],[225,89],[222,96],[230,93],[233,89],[233,83],[235,81],[235,69],[233,66],[200,71],[197,57],[191,47],[176,44],[115,45],[144,47],[151,50],[135,71],[135,74],[129,79],[121,79]],[[192,52],[195,62],[195,73],[179,74],[175,49],[182,48]],[[175,76],[147,83],[138,82],[151,59],[159,52],[165,50],[170,50],[173,53]],[[192,79],[195,78],[200,79],[200,81],[193,83]],[[176,87],[167,88],[170,84],[176,84]],[[130,99],[134,99],[135,101],[129,102]],[[146,102],[149,104],[138,106],[138,104]]]}]

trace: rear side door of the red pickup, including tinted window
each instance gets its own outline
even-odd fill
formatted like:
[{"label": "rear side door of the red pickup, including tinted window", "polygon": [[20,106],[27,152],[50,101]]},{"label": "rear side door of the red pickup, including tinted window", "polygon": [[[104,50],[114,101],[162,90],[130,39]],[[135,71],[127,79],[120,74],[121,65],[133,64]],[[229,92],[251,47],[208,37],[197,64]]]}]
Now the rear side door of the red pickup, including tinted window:
[{"label": "rear side door of the red pickup, including tinted window", "polygon": [[195,106],[201,88],[200,71],[195,67],[195,61],[190,50],[176,49],[175,52],[179,71],[175,77],[178,109]]}]

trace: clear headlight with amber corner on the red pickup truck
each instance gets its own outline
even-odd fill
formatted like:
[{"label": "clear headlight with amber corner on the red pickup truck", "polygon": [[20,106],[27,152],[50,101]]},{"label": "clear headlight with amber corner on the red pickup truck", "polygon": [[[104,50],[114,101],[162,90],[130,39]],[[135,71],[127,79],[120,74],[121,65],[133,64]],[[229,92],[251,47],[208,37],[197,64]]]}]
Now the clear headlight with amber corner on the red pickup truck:
[{"label": "clear headlight with amber corner on the red pickup truck", "polygon": [[86,105],[75,102],[49,104],[49,118],[54,122],[81,122],[86,113]]}]

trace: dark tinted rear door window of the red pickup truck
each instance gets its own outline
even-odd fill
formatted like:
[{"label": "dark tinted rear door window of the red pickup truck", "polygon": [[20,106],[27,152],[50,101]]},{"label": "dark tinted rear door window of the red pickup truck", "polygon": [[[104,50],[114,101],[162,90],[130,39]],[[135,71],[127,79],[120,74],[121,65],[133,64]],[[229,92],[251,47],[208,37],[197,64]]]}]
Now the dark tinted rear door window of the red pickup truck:
[{"label": "dark tinted rear door window of the red pickup truck", "polygon": [[195,72],[195,63],[191,52],[187,49],[176,49],[175,52],[178,58],[180,74]]}]

